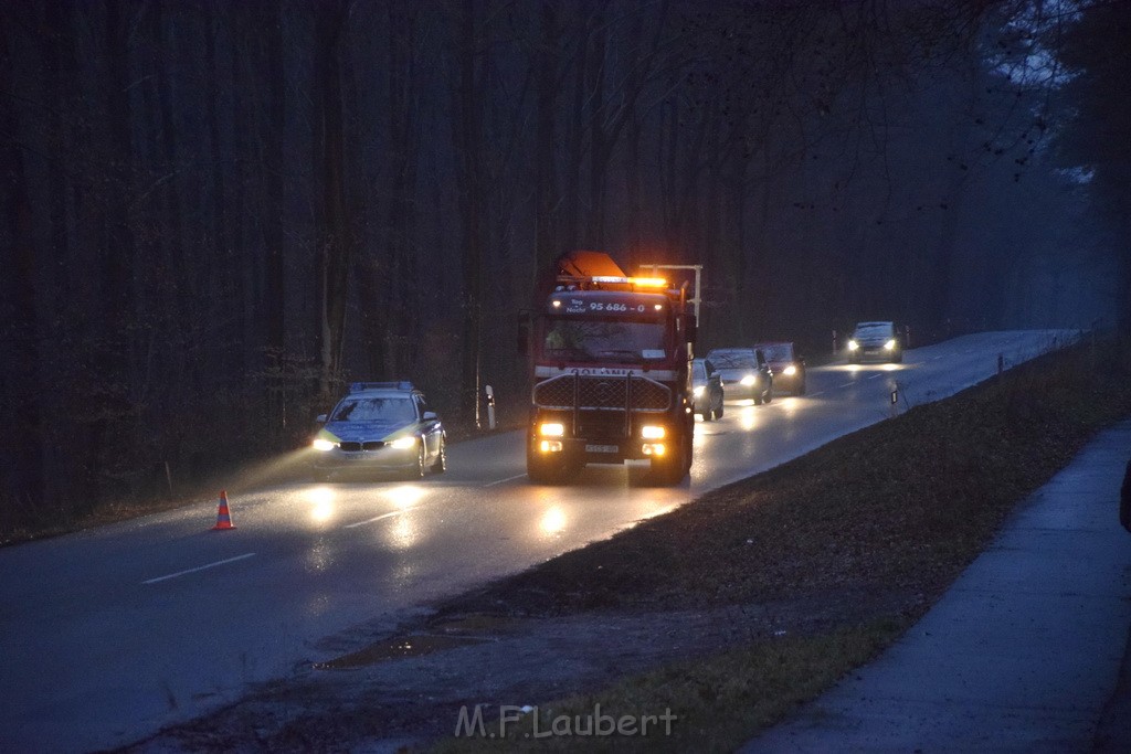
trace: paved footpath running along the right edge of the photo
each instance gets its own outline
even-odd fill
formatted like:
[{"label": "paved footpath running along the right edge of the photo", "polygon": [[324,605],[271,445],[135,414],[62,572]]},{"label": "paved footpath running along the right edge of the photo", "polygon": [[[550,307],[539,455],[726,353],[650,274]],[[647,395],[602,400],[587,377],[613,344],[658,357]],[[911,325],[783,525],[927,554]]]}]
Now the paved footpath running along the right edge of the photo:
[{"label": "paved footpath running along the right edge of the photo", "polygon": [[1131,422],[1018,506],[878,660],[743,752],[1131,752]]}]

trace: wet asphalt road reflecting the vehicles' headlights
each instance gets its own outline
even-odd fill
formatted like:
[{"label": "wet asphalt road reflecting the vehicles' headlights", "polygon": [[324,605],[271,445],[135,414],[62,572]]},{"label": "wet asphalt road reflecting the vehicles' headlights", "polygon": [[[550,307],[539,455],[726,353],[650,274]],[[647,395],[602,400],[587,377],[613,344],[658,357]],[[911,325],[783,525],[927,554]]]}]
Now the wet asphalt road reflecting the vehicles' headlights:
[{"label": "wet asphalt road reflecting the vehicles' headlights", "polygon": [[809,395],[727,404],[697,423],[690,483],[589,467],[534,486],[523,435],[449,448],[422,483],[291,484],[0,551],[0,751],[138,740],[307,671],[430,600],[608,537],[702,492],[936,400],[1068,333],[992,332],[907,352],[899,365],[809,371]]}]

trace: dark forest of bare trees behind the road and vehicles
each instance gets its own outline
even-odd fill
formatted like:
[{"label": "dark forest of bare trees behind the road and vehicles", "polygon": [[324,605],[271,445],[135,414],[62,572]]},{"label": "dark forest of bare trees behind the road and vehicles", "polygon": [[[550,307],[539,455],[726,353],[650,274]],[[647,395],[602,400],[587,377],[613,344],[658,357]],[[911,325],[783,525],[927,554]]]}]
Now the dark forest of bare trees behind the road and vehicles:
[{"label": "dark forest of bare trees behind the road and vehicles", "polygon": [[1131,3],[0,0],[0,528],[521,410],[553,260],[703,266],[706,347],[1123,327]]}]

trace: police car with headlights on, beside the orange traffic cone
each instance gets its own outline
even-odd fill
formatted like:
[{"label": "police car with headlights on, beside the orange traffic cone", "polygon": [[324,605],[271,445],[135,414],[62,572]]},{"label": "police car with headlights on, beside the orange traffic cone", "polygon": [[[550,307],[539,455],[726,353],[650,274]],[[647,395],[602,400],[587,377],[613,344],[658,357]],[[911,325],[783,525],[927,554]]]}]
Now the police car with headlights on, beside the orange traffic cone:
[{"label": "police car with headlights on, beside the orange traffic cone", "polygon": [[355,382],[311,443],[311,475],[396,471],[412,479],[447,468],[447,434],[411,382]]}]

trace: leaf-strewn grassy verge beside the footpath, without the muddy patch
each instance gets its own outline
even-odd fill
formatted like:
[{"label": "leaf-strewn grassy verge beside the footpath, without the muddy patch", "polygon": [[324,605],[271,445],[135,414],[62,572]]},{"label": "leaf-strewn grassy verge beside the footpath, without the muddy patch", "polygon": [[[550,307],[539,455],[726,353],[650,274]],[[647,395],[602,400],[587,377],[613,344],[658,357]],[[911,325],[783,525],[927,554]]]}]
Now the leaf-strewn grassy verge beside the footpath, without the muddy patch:
[{"label": "leaf-strewn grassy verge beside the footpath, without the muddy patch", "polygon": [[1019,501],[1129,414],[1129,344],[1076,346],[450,600],[440,617],[791,605],[797,631],[787,640],[753,638],[539,707],[543,729],[555,714],[592,714],[597,703],[615,717],[671,708],[681,718],[671,737],[535,742],[524,719],[506,740],[508,748],[729,751],[893,641]]}]

